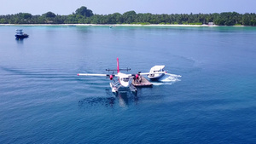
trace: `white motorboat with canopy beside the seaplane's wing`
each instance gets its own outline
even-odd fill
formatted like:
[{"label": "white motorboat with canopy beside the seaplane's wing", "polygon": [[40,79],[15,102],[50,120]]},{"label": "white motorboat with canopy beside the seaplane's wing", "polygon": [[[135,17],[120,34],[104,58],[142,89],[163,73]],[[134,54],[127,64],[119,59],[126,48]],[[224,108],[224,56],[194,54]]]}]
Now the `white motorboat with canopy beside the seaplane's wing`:
[{"label": "white motorboat with canopy beside the seaplane's wing", "polygon": [[149,73],[148,74],[148,78],[150,78],[150,80],[159,80],[160,78],[162,78],[165,73],[155,73],[155,72],[165,72],[164,70],[165,66],[153,66],[151,67]]}]

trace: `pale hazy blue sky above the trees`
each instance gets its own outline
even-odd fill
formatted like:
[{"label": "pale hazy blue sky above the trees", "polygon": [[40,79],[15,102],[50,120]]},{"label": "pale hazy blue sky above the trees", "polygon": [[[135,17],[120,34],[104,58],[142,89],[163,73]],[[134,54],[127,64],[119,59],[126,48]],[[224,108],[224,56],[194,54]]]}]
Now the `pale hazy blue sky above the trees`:
[{"label": "pale hazy blue sky above the trees", "polygon": [[93,14],[124,14],[134,10],[151,14],[256,13],[256,0],[0,0],[0,14],[72,14],[81,6]]}]

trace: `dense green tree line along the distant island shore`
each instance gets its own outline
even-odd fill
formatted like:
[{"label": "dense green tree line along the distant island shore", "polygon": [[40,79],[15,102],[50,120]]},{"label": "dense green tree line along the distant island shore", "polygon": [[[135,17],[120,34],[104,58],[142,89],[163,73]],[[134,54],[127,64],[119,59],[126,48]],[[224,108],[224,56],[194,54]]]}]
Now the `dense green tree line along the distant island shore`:
[{"label": "dense green tree line along the distant island shore", "polygon": [[256,26],[256,14],[236,12],[213,14],[93,14],[92,10],[81,7],[73,14],[59,15],[47,12],[42,15],[29,13],[0,15],[0,24],[183,24],[202,25],[213,22],[218,26]]}]

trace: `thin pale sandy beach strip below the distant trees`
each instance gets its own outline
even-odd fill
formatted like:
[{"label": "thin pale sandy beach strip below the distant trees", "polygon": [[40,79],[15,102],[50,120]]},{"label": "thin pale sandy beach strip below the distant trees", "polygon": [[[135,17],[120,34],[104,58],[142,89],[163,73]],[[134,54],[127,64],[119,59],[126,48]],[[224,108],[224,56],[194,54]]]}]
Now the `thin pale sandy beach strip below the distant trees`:
[{"label": "thin pale sandy beach strip below the distant trees", "polygon": [[[217,25],[140,25],[140,24],[0,24],[0,26],[181,26],[181,27],[215,27]],[[242,26],[236,26],[242,27]]]}]

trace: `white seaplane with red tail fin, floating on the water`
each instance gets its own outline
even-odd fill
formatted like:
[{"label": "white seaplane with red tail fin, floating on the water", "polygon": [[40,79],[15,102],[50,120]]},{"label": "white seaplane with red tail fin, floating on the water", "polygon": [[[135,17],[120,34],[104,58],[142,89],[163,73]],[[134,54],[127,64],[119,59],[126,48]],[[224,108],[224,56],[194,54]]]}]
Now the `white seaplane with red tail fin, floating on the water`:
[{"label": "white seaplane with red tail fin, floating on the water", "polygon": [[[78,76],[96,76],[96,77],[107,77],[110,80],[113,80],[113,83],[109,83],[112,92],[113,93],[119,93],[119,92],[126,92],[130,90],[131,92],[137,93],[137,89],[134,85],[132,85],[132,80],[140,78],[141,76],[145,75],[154,75],[154,74],[161,74],[166,72],[137,72],[134,74],[126,74],[120,71],[129,71],[131,69],[120,69],[119,68],[119,58],[117,58],[117,69],[116,70],[110,70],[106,69],[106,71],[110,72],[113,71],[113,74],[97,74],[97,73],[78,73]],[[117,74],[114,74],[114,72],[117,72]],[[114,78],[118,78],[118,81],[114,80]]]}]

